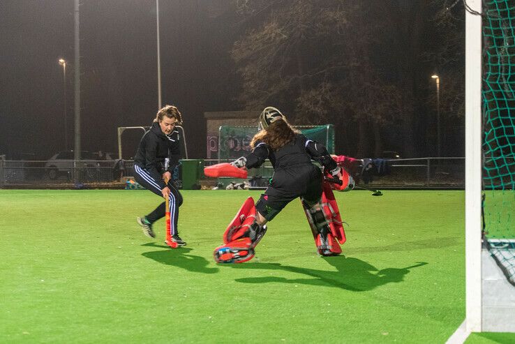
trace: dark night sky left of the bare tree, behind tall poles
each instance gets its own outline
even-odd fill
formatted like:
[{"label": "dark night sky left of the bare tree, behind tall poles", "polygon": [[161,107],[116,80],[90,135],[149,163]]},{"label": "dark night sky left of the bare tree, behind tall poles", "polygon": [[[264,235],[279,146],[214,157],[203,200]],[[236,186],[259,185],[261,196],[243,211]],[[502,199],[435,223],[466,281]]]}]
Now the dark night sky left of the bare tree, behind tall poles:
[{"label": "dark night sky left of the bare tree, behind tall poles", "polygon": [[[73,4],[0,1],[0,154],[8,159],[65,149],[61,57],[73,149]],[[163,105],[183,113],[190,158],[205,155],[204,112],[240,110],[227,52],[237,30],[226,9],[222,0],[160,1]],[[117,154],[117,127],[148,126],[158,108],[156,1],[82,1],[80,37],[82,149]]]}]

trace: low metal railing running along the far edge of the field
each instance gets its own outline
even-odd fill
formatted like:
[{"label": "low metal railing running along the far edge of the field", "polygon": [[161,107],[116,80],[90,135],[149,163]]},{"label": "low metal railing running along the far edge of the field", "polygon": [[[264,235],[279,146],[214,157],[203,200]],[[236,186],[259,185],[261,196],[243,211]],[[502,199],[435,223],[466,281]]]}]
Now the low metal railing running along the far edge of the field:
[{"label": "low metal railing running along the far edge of the field", "polygon": [[[66,160],[51,165],[47,160],[2,160],[0,159],[0,188],[20,186],[57,186],[77,182],[83,184],[121,185],[122,176],[133,175],[133,161],[124,160],[121,169],[119,160]],[[214,165],[218,159],[206,159],[204,165]],[[230,160],[221,160],[230,162]],[[371,184],[389,188],[464,188],[465,158],[412,158],[389,160],[389,174],[373,176]],[[267,182],[274,173],[269,161],[260,168],[248,171],[249,179]],[[361,181],[362,182],[362,181]]]}]

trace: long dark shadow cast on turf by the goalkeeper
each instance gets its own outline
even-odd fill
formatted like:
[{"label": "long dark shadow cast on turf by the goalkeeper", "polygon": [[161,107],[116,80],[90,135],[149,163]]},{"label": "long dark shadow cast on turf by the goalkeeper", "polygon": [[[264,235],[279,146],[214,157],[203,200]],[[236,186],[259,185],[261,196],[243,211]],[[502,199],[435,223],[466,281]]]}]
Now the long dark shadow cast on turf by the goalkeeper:
[{"label": "long dark shadow cast on turf by the goalkeeper", "polygon": [[291,267],[280,263],[245,263],[230,264],[233,269],[266,269],[282,270],[310,276],[311,278],[285,278],[276,276],[237,278],[240,283],[289,283],[320,285],[325,287],[338,287],[354,292],[372,290],[387,283],[400,283],[410,269],[421,267],[428,263],[419,262],[410,267],[387,268],[378,270],[373,265],[357,258],[345,257],[323,257],[326,262],[336,268],[336,271],[306,269],[303,267]]}]

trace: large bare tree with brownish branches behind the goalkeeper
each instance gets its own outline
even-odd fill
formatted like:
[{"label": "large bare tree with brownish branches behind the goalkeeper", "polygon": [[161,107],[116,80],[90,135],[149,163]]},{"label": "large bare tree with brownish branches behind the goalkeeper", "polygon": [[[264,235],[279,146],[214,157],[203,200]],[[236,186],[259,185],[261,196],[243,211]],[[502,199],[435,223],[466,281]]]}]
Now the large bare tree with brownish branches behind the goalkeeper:
[{"label": "large bare tree with brownish branches behind the goalkeeper", "polygon": [[[343,150],[362,156],[379,156],[386,139],[395,141],[385,137],[392,131],[385,129],[394,126],[401,142],[395,143],[405,156],[419,154],[415,137],[419,140],[425,124],[420,118],[428,116],[425,107],[435,95],[428,70],[438,61],[459,58],[453,40],[460,31],[445,36],[451,28],[438,29],[435,8],[445,0],[234,3],[245,32],[231,51],[243,80],[239,102],[244,107],[273,104],[297,123],[334,123],[352,138]],[[449,24],[454,22],[447,19]],[[434,52],[428,44],[435,39],[431,30],[440,44]],[[445,87],[445,106],[461,107],[459,82]]]}]

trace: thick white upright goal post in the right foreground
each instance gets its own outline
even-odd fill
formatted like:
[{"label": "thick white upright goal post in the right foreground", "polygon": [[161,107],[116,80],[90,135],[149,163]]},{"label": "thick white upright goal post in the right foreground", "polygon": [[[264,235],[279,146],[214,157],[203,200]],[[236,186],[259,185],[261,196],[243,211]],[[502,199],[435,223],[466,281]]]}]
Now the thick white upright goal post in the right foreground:
[{"label": "thick white upright goal post in the right foreground", "polygon": [[[468,0],[482,13],[481,0]],[[482,331],[482,17],[465,10],[466,330]]]}]

